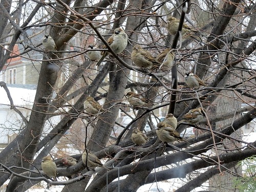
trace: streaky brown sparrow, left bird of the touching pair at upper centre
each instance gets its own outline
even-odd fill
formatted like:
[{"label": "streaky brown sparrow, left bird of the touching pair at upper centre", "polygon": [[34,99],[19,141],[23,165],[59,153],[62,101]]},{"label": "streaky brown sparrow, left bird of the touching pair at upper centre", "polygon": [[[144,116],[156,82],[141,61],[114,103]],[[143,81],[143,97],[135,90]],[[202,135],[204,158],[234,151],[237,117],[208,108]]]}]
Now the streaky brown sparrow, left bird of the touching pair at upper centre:
[{"label": "streaky brown sparrow, left bird of the touching pair at upper centre", "polygon": [[159,67],[161,65],[150,52],[142,49],[139,45],[133,47],[132,61],[137,67],[145,69],[152,69],[153,66]]}]

